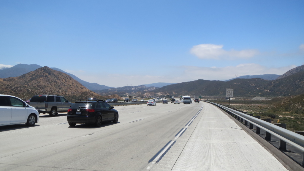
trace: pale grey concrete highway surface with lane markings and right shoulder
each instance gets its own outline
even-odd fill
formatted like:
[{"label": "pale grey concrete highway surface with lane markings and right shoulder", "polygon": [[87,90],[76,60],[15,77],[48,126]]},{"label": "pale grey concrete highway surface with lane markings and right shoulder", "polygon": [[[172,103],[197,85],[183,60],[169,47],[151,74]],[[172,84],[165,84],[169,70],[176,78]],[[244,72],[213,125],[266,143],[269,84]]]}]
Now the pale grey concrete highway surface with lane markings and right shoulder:
[{"label": "pale grey concrete highway surface with lane markings and right shoulder", "polygon": [[101,127],[69,127],[66,113],[0,127],[0,171],[290,170],[209,103],[115,109]]}]

